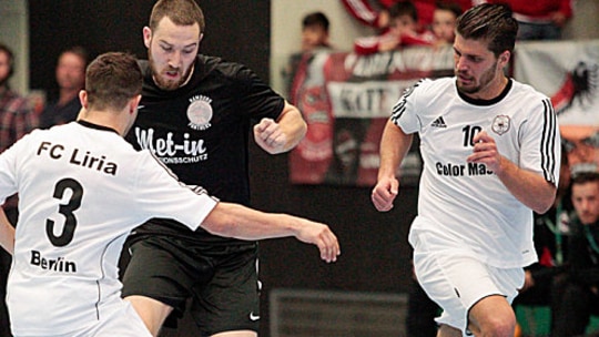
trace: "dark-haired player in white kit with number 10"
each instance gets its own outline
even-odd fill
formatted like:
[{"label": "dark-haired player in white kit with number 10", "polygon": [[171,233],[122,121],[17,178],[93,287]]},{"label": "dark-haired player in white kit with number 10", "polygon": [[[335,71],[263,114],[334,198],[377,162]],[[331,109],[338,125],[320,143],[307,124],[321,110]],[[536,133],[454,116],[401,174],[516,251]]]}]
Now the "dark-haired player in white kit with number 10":
[{"label": "dark-haired player in white kit with number 10", "polygon": [[507,7],[465,12],[455,76],[423,80],[394,106],[372,200],[393,207],[397,168],[420,137],[424,171],[409,232],[418,282],[443,308],[437,336],[514,336],[510,303],[537,261],[532,211],[555,198],[560,137],[549,99],[504,73],[518,30]]}]

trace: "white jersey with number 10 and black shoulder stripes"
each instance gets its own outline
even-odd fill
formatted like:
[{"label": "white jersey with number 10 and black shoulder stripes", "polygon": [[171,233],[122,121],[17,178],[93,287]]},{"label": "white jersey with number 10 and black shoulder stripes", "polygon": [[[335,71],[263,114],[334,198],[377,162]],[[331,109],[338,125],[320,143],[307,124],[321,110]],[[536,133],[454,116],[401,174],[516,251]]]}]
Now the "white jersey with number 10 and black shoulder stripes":
[{"label": "white jersey with number 10 and black shoulder stripes", "polygon": [[425,163],[418,216],[428,221],[417,217],[410,237],[433,233],[500,268],[537,259],[532,211],[486,165],[466,157],[474,136],[486,131],[499,154],[557,185],[560,137],[547,96],[510,80],[499,98],[476,101],[458,93],[455,78],[423,80],[397,102],[392,121],[405,133],[419,134]]}]

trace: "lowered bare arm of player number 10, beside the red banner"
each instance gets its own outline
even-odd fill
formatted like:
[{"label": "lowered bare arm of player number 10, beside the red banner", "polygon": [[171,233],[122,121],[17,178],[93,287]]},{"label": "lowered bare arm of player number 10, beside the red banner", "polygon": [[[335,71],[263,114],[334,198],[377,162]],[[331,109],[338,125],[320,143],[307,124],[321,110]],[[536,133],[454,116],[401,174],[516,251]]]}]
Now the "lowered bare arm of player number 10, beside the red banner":
[{"label": "lowered bare arm of player number 10, beside the red banner", "polygon": [[399,193],[399,181],[395,173],[412,146],[412,140],[413,135],[406,134],[390,120],[387,122],[380,140],[378,180],[370,196],[376,210],[380,212],[393,208],[393,202]]}]

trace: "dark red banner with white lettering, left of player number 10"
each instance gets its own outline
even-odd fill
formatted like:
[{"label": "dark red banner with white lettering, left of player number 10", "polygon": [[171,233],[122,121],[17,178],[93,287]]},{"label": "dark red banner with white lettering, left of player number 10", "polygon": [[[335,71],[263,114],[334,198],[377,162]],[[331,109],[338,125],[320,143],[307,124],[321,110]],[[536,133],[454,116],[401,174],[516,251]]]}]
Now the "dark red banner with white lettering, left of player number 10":
[{"label": "dark red banner with white lettering, left of player number 10", "polygon": [[[290,153],[295,184],[374,186],[378,147],[393,105],[422,78],[453,74],[450,48],[409,48],[358,57],[321,51],[293,57],[290,100],[304,114],[307,134]],[[404,160],[402,184],[417,184],[417,142]]]}]

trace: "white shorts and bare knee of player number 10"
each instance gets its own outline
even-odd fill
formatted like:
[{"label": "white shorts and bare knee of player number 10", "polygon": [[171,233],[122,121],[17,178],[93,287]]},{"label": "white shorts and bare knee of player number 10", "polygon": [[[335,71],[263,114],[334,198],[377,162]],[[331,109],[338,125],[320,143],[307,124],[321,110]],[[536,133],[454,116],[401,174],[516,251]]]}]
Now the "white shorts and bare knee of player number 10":
[{"label": "white shorts and bare knee of player number 10", "polygon": [[419,234],[413,243],[418,282],[443,308],[436,318],[441,325],[439,336],[470,333],[470,328],[480,336],[514,336],[516,318],[510,303],[524,284],[522,268],[488,266],[473,252],[428,234]]}]

